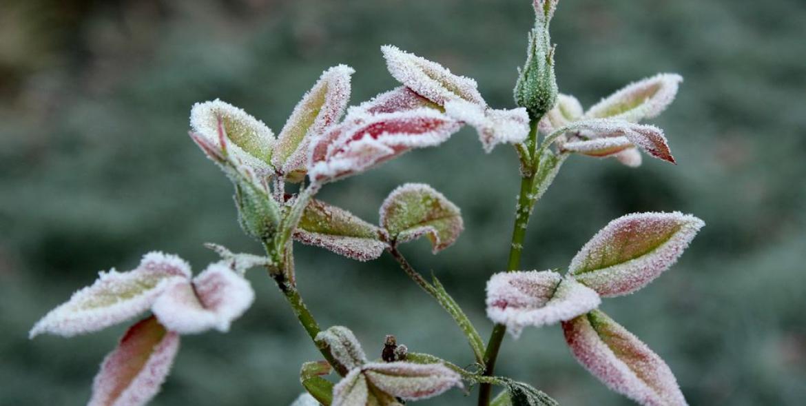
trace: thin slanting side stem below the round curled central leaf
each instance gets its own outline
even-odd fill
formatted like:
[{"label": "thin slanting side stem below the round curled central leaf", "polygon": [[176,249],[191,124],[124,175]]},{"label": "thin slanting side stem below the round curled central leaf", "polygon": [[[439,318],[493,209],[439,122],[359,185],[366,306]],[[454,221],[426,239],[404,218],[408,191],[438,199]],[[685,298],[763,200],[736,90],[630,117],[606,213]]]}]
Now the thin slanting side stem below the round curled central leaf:
[{"label": "thin slanting side stem below the round curled central leaf", "polygon": [[467,342],[470,344],[470,348],[473,350],[473,355],[476,357],[476,362],[482,363],[484,362],[484,341],[481,340],[481,336],[479,332],[476,331],[476,327],[473,326],[470,319],[467,318],[467,315],[464,314],[462,308],[459,308],[459,304],[455,302],[451,295],[448,295],[447,292],[442,289],[442,286],[439,285],[436,280],[434,283],[437,283],[437,286],[434,284],[428,283],[426,278],[422,277],[417,270],[406,261],[403,253],[397,250],[396,245],[390,245],[388,248],[388,252],[395,258],[398,264],[400,264],[403,271],[409,275],[414,283],[417,283],[420,287],[422,287],[423,291],[426,291],[429,295],[431,295],[437,302],[448,312],[451,317],[456,321],[456,324],[459,325],[459,329],[462,329],[463,333],[467,337]]}]

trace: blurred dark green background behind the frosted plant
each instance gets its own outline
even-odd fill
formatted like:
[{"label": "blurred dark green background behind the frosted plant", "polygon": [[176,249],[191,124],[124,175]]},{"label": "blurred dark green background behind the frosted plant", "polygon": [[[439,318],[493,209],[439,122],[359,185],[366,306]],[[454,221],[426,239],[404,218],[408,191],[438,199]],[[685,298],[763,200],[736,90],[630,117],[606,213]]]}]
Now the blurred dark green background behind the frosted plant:
[{"label": "blurred dark green background behind the frosted plant", "polygon": [[[397,86],[381,44],[475,77],[496,107],[532,23],[528,0],[0,2],[0,404],[82,404],[124,326],[27,340],[31,325],[98,270],[161,249],[196,270],[207,241],[260,252],[235,221],[231,186],[189,140],[189,107],[222,98],[279,132],[323,69],[346,63],[352,103]],[[802,0],[563,0],[552,24],[560,89],[585,105],[671,71],[686,81],[654,123],[679,165],[572,157],[538,203],[524,267],[563,268],[609,220],[690,212],[708,224],[681,261],[635,295],[603,304],[675,371],[691,404],[806,403],[806,5]],[[482,153],[464,129],[326,187],[367,220],[402,182],[462,207],[467,229],[431,270],[488,337],[484,283],[502,270],[517,158]],[[459,330],[390,258],[352,262],[299,247],[299,286],[323,326],[344,324],[378,356],[384,334],[472,362]],[[153,404],[284,406],[317,359],[272,281],[231,333],[183,338]],[[498,372],[563,405],[630,404],[579,366],[556,326],[507,337]],[[473,394],[475,396],[475,393]],[[459,391],[422,404],[475,404]]]}]

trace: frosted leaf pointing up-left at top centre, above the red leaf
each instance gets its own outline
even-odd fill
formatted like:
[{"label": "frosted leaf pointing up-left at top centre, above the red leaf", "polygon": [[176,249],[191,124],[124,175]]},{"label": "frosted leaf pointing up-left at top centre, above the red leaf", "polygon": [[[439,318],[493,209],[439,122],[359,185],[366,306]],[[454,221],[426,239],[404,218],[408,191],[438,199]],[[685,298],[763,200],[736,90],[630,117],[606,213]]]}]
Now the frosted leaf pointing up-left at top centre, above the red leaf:
[{"label": "frosted leaf pointing up-left at top centre, above the red leaf", "polygon": [[462,99],[487,107],[477,90],[476,81],[457,76],[442,65],[428,61],[392,45],[380,47],[389,73],[415,93],[443,106],[451,100]]}]

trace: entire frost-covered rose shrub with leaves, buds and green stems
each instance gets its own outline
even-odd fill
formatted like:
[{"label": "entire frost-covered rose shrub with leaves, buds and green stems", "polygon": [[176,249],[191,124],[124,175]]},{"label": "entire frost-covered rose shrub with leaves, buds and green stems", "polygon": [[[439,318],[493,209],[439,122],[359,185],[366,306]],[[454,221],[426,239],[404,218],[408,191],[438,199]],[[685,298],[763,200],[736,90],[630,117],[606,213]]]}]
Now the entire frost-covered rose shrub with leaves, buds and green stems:
[{"label": "entire frost-covered rose shrub with leaves, buds and green stems", "polygon": [[[535,0],[535,26],[514,89],[517,108],[496,109],[476,82],[436,62],[381,48],[401,86],[347,107],[353,69],[322,73],[275,136],[263,122],[228,103],[197,103],[190,137],[235,186],[243,231],[265,253],[231,253],[208,245],[221,260],[193,275],[166,253],[147,253],[134,270],[110,270],[45,315],[31,337],[92,333],[150,313],[135,322],[102,362],[91,405],[146,404],[160,390],[181,336],[226,332],[250,307],[255,292],[243,274],[268,270],[280,293],[322,354],[301,365],[305,389],[294,404],[396,405],[479,387],[480,405],[552,405],[549,395],[507,377],[494,366],[506,332],[559,324],[571,354],[605,385],[644,405],[683,405],[675,376],[642,341],[598,310],[601,300],[640,290],[669,269],[703,222],[672,213],[634,213],[613,220],[571,258],[564,273],[523,270],[526,227],[537,200],[571,155],[613,157],[638,166],[642,154],[675,163],[660,128],[641,123],[675,98],[682,78],[659,75],[635,82],[587,110],[555,82],[549,22],[557,0]],[[487,341],[437,278],[426,280],[406,261],[402,243],[425,236],[434,253],[463,231],[459,207],[426,184],[405,184],[380,206],[378,224],[359,219],[315,196],[322,187],[357,175],[411,149],[434,147],[464,125],[476,128],[485,151],[510,144],[519,158],[521,189],[509,263],[487,283]],[[289,189],[286,190],[286,186]],[[293,187],[292,187],[293,186]],[[381,354],[366,354],[350,329],[321,329],[295,283],[293,242],[316,245],[358,261],[389,253],[455,320],[475,364],[419,354],[388,336]],[[379,337],[380,342],[380,337]],[[380,355],[380,358],[377,356]],[[492,398],[492,387],[502,387]]]}]

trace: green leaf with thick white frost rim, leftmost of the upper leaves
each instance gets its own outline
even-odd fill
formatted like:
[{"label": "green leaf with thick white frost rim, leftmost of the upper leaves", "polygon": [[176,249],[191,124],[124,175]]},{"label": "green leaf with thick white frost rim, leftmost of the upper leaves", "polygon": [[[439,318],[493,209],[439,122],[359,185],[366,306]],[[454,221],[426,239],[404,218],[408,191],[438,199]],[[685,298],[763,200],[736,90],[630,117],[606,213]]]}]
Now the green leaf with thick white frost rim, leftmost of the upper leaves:
[{"label": "green leaf with thick white frost rim, leftmost of the upper leaves", "polygon": [[[238,107],[218,99],[196,103],[190,110],[190,127],[207,140],[206,144],[218,147],[234,161],[243,162],[260,174],[273,172],[269,162],[275,144],[274,133]],[[198,140],[196,142],[199,144]],[[202,144],[199,146],[208,153]]]}]

